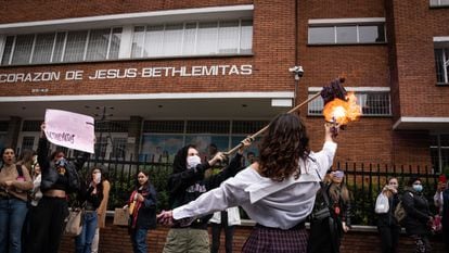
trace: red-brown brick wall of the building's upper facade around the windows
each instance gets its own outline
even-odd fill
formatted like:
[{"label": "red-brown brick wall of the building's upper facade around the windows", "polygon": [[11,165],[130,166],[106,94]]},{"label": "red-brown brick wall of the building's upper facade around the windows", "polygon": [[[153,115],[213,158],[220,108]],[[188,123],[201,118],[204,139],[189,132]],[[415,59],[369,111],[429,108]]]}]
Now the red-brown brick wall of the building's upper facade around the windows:
[{"label": "red-brown brick wall of the building's upper facade around the windows", "polygon": [[[194,66],[252,64],[251,76],[198,76],[190,78],[124,78],[82,81],[8,84],[0,96],[44,96],[33,89],[48,88],[55,94],[108,94],[161,92],[294,91],[287,69],[299,64],[305,76],[298,84],[297,102],[305,101],[308,87],[322,87],[339,75],[347,87],[390,87],[394,115],[363,117],[338,136],[336,161],[409,165],[431,164],[427,131],[397,131],[399,116],[449,116],[449,89],[435,86],[433,36],[448,36],[447,9],[429,9],[428,1],[294,1],[194,0],[124,1],[100,0],[73,4],[63,1],[4,1],[0,24],[51,18],[81,17],[187,8],[254,4],[253,55],[231,58],[180,58],[100,63],[67,63],[23,67],[1,67],[0,73],[61,72],[80,69],[85,76],[95,69],[151,66]],[[311,18],[386,17],[388,43],[370,46],[308,46]],[[297,23],[297,26],[295,26]],[[410,25],[412,24],[412,25]],[[295,27],[297,30],[295,30]],[[297,33],[297,38],[295,34]],[[297,51],[297,55],[295,52]],[[323,139],[321,117],[307,117],[300,110],[311,139],[319,150]],[[361,148],[362,147],[362,148]]]}]

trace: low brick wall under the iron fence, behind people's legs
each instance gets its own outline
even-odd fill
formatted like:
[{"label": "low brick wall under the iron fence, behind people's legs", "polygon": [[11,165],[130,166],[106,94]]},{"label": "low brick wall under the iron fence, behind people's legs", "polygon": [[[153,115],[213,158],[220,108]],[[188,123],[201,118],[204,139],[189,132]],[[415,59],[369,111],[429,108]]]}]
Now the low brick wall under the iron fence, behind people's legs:
[{"label": "low brick wall under the iron fence, behind people's legs", "polygon": [[[251,233],[252,226],[238,226],[234,235],[234,252],[241,252],[242,245]],[[356,230],[356,228],[355,228]],[[350,231],[344,236],[342,253],[374,253],[381,252],[381,242],[379,233],[374,228],[371,231]],[[367,230],[367,229],[364,229]],[[146,237],[149,252],[161,253],[164,248],[168,228],[158,227],[156,230],[150,230]],[[209,233],[210,235],[210,233]],[[131,243],[127,229],[112,225],[112,218],[106,219],[106,228],[101,230],[100,253],[128,253],[132,252]],[[220,252],[224,253],[224,238],[221,235]],[[440,238],[432,238],[433,252],[444,252],[444,245]],[[399,253],[412,252],[413,241],[406,235],[401,235]],[[61,253],[74,252],[74,239],[64,237]]]}]

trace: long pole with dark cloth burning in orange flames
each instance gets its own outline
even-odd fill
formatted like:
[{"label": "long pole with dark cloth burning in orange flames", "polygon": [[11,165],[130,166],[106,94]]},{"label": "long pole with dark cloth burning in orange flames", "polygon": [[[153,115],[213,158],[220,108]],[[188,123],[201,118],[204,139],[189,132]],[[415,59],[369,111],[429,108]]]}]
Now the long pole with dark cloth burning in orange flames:
[{"label": "long pole with dark cloth burning in orange flames", "polygon": [[[338,77],[332,80],[331,84],[326,87],[323,87],[323,89],[320,92],[317,92],[316,94],[313,94],[312,97],[304,101],[303,103],[296,105],[295,107],[290,110],[287,113],[296,112],[298,109],[300,109],[305,104],[311,102],[312,100],[321,96],[321,98],[324,100],[323,115],[325,117],[325,121],[332,124],[331,130],[333,132],[333,136],[336,137],[336,135],[338,134],[337,132],[338,128],[345,127],[345,125],[348,122],[355,121],[360,115],[360,106],[356,104],[356,97],[354,96],[354,93],[348,94],[348,92],[346,92],[345,88],[343,87],[343,83],[345,83],[344,77]],[[356,116],[356,111],[358,112],[357,116]],[[248,138],[251,140],[254,140],[260,134],[266,131],[269,125],[265,126],[259,131],[249,136]],[[242,146],[243,143],[239,143],[238,146],[235,146],[234,148],[232,148],[224,154],[230,155]]]}]

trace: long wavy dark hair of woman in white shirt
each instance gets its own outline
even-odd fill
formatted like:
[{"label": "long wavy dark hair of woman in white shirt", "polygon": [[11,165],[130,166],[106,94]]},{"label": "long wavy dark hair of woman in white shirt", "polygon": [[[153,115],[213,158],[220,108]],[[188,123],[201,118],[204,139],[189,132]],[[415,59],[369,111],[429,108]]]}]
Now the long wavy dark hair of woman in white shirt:
[{"label": "long wavy dark hair of woman in white shirt", "polygon": [[297,115],[278,115],[269,125],[259,146],[260,174],[275,181],[300,175],[299,159],[309,154],[306,126]]}]

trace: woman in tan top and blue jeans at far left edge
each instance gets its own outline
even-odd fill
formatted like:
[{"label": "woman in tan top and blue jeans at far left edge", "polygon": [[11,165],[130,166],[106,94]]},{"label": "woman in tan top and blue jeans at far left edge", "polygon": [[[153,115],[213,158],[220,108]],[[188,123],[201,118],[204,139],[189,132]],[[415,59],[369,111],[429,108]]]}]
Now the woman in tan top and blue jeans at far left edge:
[{"label": "woman in tan top and blue jeans at far left edge", "polygon": [[15,164],[12,148],[1,151],[0,252],[22,253],[22,227],[27,214],[27,191],[33,188],[25,165]]}]

